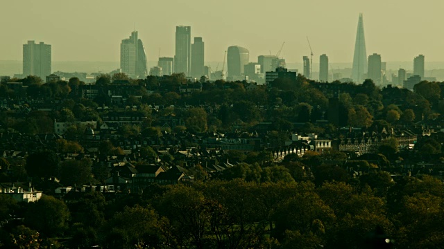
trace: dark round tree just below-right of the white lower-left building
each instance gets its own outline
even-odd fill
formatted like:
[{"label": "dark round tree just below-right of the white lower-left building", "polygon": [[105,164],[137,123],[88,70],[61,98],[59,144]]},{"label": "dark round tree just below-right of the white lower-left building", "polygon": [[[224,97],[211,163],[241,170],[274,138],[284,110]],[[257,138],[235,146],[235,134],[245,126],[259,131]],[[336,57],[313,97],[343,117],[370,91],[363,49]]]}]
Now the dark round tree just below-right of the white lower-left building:
[{"label": "dark round tree just below-right of the white lower-left building", "polygon": [[69,210],[67,205],[52,196],[31,204],[25,214],[25,223],[46,237],[62,234],[67,228]]}]

